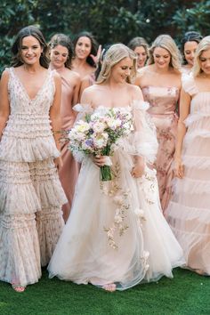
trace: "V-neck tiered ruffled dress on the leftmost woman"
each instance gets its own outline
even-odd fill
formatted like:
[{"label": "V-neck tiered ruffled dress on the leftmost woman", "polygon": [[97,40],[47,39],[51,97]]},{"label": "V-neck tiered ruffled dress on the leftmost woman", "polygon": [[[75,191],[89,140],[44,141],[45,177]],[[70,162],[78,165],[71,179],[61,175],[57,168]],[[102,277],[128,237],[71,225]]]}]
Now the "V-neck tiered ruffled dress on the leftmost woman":
[{"label": "V-neck tiered ruffled dress on the leftmost woman", "polygon": [[15,69],[9,71],[10,116],[0,142],[0,279],[21,286],[41,276],[63,227],[66,197],[53,158],[49,110],[52,71],[30,100]]}]

